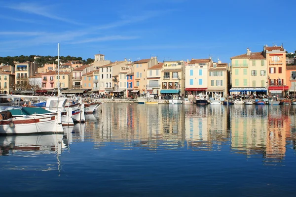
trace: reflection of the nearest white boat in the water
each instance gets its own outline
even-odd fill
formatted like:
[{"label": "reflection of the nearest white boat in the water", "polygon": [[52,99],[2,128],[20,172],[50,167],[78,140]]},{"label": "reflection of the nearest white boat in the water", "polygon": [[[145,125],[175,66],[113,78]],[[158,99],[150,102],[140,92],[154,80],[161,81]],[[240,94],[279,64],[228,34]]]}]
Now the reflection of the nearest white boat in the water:
[{"label": "reflection of the nearest white boat in the water", "polygon": [[[3,159],[1,168],[18,170],[58,170],[60,168],[59,155],[62,149],[67,148],[63,144],[63,134],[42,135],[12,135],[0,136],[0,155],[13,156]],[[40,162],[41,157],[52,155]],[[22,159],[19,160],[18,158]]]}]

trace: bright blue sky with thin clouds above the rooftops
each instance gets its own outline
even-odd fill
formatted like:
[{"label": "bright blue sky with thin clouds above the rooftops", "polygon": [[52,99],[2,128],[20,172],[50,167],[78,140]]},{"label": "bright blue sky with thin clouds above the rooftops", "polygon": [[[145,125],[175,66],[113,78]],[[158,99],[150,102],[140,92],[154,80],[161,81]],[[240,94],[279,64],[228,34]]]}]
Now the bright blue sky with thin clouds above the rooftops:
[{"label": "bright blue sky with thin clouds above the rooftops", "polygon": [[131,61],[296,50],[295,1],[0,0],[0,56],[60,55]]}]

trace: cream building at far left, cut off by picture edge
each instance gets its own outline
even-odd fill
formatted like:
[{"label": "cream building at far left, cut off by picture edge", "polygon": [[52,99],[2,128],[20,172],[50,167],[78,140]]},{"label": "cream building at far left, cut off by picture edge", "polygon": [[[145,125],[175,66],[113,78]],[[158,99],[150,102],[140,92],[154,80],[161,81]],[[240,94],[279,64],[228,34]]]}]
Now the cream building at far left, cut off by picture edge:
[{"label": "cream building at far left, cut off by picture edge", "polygon": [[11,94],[15,90],[15,74],[7,69],[0,70],[0,90],[2,94]]}]

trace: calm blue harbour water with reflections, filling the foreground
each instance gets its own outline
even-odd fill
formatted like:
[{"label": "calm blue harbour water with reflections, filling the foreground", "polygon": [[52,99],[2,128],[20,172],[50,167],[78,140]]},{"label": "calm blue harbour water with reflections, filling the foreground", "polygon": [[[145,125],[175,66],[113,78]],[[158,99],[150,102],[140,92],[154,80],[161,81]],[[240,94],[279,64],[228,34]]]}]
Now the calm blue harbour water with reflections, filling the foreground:
[{"label": "calm blue harbour water with reflections, filling the foreground", "polygon": [[295,196],[296,106],[104,103],[64,135],[0,137],[0,196]]}]

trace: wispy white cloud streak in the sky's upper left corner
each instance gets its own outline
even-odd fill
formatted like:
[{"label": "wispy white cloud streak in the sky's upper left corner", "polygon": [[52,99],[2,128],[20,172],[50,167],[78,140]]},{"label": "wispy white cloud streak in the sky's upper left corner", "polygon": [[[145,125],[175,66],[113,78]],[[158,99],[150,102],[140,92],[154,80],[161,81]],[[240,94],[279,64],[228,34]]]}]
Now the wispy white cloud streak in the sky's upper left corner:
[{"label": "wispy white cloud streak in the sky's upper left corner", "polygon": [[53,10],[57,10],[57,8],[54,8],[52,6],[46,7],[46,6],[38,5],[35,3],[19,3],[19,4],[13,4],[13,5],[12,4],[6,5],[3,7],[7,7],[10,9],[18,10],[18,11],[25,12],[25,13],[36,14],[39,16],[43,16],[43,17],[58,20],[58,21],[63,21],[66,23],[71,23],[74,25],[81,25],[80,23],[69,20],[67,18],[63,18],[63,17],[59,17],[59,16],[54,15]]}]

